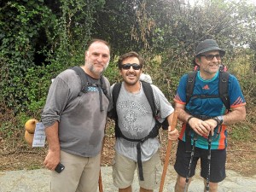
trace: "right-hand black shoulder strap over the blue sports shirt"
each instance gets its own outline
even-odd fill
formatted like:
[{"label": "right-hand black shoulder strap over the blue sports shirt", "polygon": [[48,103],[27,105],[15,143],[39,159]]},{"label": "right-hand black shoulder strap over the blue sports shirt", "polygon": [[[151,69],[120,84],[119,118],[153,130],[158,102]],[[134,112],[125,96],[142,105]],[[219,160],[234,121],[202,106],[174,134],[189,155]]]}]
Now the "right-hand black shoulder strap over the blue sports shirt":
[{"label": "right-hand black shoulder strap over the blue sports shirt", "polygon": [[230,73],[220,71],[218,81],[219,97],[221,98],[224,106],[230,110],[230,94],[229,94],[229,78]]}]

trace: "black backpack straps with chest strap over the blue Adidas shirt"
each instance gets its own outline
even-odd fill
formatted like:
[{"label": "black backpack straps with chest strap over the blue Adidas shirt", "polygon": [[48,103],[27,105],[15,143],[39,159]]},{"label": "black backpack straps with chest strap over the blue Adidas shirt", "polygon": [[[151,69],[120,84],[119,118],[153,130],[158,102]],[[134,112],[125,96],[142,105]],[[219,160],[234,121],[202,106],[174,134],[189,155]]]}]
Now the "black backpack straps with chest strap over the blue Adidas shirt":
[{"label": "black backpack straps with chest strap over the blue Adidas shirt", "polygon": [[186,103],[189,103],[191,97],[196,98],[218,98],[222,100],[225,108],[230,110],[230,95],[229,95],[229,77],[230,73],[226,72],[227,68],[222,65],[219,67],[219,81],[218,81],[218,95],[206,96],[195,95],[192,96],[195,86],[195,75],[198,71],[198,67],[195,67],[195,71],[188,73],[187,86],[186,86]]}]

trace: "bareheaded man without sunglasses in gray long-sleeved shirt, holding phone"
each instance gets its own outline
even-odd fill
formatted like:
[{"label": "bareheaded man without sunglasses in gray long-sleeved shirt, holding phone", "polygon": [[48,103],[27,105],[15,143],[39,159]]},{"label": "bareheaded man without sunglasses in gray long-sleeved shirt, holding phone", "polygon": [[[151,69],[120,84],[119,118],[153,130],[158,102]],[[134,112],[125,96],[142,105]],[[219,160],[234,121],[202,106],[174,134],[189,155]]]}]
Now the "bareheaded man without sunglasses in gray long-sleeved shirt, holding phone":
[{"label": "bareheaded man without sunglasses in gray long-sleeved shirt, holding phone", "polygon": [[[110,92],[108,79],[101,78],[109,59],[108,43],[94,39],[79,68],[88,83],[85,93],[80,92],[81,79],[72,69],[60,73],[50,85],[42,122],[49,143],[44,166],[52,171],[51,192],[97,191],[109,101],[95,84],[104,81]],[[59,162],[65,169],[57,173]]]}]

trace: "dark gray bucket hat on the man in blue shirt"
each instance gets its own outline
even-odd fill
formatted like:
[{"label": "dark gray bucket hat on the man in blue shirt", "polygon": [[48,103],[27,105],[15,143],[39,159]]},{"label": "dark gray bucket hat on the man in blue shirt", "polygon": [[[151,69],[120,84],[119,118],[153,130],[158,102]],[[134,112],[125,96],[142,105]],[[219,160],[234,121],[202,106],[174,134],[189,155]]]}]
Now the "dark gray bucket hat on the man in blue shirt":
[{"label": "dark gray bucket hat on the man in blue shirt", "polygon": [[220,55],[222,55],[222,56],[225,55],[225,51],[218,47],[218,44],[217,44],[217,42],[215,40],[213,40],[213,39],[206,39],[204,41],[201,41],[201,43],[199,43],[196,46],[195,56],[200,55],[202,53],[205,53],[207,51],[211,51],[211,50],[219,50],[219,54]]}]

